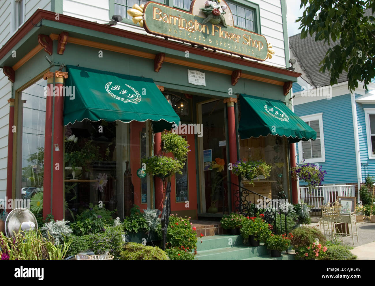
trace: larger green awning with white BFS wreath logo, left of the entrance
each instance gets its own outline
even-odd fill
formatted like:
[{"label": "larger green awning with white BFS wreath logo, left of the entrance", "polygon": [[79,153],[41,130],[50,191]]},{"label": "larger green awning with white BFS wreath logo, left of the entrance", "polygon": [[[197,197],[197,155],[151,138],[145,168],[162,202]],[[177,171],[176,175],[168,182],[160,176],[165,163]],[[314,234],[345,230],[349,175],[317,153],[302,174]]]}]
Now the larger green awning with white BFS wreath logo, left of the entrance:
[{"label": "larger green awning with white BFS wreath logo, left of the entrance", "polygon": [[[153,121],[153,131],[172,129],[180,121],[151,78],[67,66],[64,125],[84,119],[107,122]],[[73,99],[74,98],[74,99]]]}]

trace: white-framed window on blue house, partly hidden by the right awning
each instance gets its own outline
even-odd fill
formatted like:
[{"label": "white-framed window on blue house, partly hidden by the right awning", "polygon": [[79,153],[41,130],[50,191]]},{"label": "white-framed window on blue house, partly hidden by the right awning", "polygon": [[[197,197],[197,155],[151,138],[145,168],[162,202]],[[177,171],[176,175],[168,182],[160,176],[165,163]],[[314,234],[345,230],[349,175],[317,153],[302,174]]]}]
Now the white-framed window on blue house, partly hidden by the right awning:
[{"label": "white-framed window on blue house, partly hidden by the right awning", "polygon": [[325,162],[323,113],[301,116],[301,119],[317,132],[317,139],[298,143],[299,160],[305,160],[305,163]]}]

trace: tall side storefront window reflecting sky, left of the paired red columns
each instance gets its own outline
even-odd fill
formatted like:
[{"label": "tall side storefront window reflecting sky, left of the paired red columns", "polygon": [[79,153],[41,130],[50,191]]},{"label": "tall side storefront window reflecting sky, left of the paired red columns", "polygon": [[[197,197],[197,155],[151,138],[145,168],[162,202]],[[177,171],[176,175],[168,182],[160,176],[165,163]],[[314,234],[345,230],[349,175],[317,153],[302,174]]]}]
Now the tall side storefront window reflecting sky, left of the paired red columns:
[{"label": "tall side storefront window reflecting sky, left of the paired red columns", "polygon": [[[46,97],[44,87],[46,80],[39,80],[23,90],[22,125],[22,196],[35,188],[43,190],[44,173],[44,137]],[[22,103],[21,103],[22,104]]]}]

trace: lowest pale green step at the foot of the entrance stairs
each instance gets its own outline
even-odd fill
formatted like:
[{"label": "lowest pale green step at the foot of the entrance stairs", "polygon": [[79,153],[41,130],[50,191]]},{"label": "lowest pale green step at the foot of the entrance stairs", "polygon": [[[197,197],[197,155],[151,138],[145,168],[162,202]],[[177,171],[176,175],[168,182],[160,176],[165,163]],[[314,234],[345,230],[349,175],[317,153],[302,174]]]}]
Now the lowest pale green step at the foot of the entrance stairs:
[{"label": "lowest pale green step at the foot of the entrance stairs", "polygon": [[270,252],[264,244],[258,247],[234,245],[233,247],[215,248],[199,251],[196,260],[242,260],[249,257],[266,256]]}]

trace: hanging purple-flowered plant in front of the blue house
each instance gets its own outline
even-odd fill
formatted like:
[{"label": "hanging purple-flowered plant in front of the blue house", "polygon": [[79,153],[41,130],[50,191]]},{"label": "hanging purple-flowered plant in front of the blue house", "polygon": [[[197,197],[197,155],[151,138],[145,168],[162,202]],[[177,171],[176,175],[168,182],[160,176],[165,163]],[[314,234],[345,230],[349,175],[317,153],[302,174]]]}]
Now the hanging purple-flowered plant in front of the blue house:
[{"label": "hanging purple-flowered plant in front of the blue house", "polygon": [[[305,162],[303,160],[301,163]],[[308,184],[308,187],[316,188],[324,181],[326,170],[322,171],[322,166],[317,166],[312,163],[302,164],[300,166],[291,168],[291,175],[294,180],[300,179]]]}]

